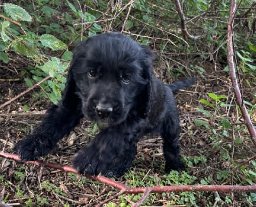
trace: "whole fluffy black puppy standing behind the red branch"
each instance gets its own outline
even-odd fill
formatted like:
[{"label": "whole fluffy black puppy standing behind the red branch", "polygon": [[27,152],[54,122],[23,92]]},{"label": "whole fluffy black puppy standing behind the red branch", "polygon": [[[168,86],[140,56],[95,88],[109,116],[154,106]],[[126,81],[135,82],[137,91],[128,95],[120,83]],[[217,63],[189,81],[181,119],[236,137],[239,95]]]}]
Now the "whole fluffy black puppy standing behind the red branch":
[{"label": "whole fluffy black puppy standing behind the red branch", "polygon": [[83,116],[97,122],[100,132],[74,157],[85,174],[122,176],[131,166],[139,139],[162,135],[165,171],[180,171],[179,112],[173,92],[194,78],[164,84],[154,76],[153,54],[120,33],[104,33],[81,42],[74,52],[67,84],[58,105],[42,123],[19,141],[14,152],[22,160],[47,155]]}]

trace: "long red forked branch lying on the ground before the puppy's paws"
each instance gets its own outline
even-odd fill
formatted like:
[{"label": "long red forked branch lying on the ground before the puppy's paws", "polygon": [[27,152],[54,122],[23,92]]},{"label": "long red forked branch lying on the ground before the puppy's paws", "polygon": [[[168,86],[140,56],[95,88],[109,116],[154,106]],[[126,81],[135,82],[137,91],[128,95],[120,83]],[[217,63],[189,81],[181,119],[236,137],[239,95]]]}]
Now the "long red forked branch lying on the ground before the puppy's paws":
[{"label": "long red forked branch lying on the ground before the puppy's paws", "polygon": [[[0,157],[10,158],[12,160],[22,162],[18,155],[4,153],[4,151],[0,151]],[[67,165],[55,164],[52,162],[44,162],[42,160],[24,161],[24,163],[34,164],[34,165],[43,165],[45,167],[60,169],[61,171],[64,171],[64,172],[78,174],[76,169],[74,169],[73,167],[67,166]],[[138,203],[134,204],[134,206],[139,206],[138,204],[143,203],[143,201],[145,201],[145,199],[147,198],[147,196],[150,193],[184,192],[184,191],[189,191],[189,192],[197,192],[197,191],[198,192],[205,192],[205,191],[208,191],[208,192],[214,192],[214,191],[218,191],[218,192],[255,192],[256,191],[256,185],[248,185],[248,186],[240,186],[240,185],[173,185],[173,186],[154,186],[154,187],[127,187],[118,181],[111,180],[104,176],[92,176],[90,174],[84,174],[84,176],[86,176],[86,178],[88,178],[88,179],[100,181],[101,183],[104,183],[106,185],[109,185],[113,188],[120,190],[120,192],[118,194],[115,194],[115,195],[113,195],[113,197],[111,197],[112,199],[114,199],[122,194],[143,194],[140,201],[138,201]],[[108,199],[108,202],[109,201],[111,201],[111,200]],[[104,204],[104,203],[101,203],[101,204]]]}]

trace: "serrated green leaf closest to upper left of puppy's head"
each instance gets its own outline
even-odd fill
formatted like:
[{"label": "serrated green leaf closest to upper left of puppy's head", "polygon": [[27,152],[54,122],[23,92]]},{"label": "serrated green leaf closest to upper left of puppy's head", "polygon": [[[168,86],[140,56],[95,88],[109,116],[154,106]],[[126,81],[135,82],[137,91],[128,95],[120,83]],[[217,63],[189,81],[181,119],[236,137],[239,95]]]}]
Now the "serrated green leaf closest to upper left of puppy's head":
[{"label": "serrated green leaf closest to upper left of puppy's head", "polygon": [[40,42],[42,45],[51,48],[52,50],[63,50],[67,48],[67,45],[64,42],[58,40],[52,34],[43,34],[40,36]]}]

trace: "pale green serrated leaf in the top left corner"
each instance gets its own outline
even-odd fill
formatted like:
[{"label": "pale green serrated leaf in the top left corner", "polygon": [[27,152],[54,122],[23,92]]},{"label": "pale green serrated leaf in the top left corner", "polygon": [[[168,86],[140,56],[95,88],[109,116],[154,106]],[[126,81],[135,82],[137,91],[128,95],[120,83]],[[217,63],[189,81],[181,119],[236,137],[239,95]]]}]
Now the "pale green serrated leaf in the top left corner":
[{"label": "pale green serrated leaf in the top left corner", "polygon": [[4,3],[4,11],[9,15],[13,20],[22,20],[26,22],[31,22],[32,17],[29,15],[28,11],[24,8],[10,3]]}]

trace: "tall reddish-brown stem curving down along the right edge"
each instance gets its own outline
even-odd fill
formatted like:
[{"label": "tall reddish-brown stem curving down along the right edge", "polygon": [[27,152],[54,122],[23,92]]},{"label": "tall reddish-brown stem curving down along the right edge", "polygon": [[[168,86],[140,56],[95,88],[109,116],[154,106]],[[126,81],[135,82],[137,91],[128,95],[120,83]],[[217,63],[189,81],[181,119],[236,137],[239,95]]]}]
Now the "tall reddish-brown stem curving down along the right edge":
[{"label": "tall reddish-brown stem curving down along the right edge", "polygon": [[227,27],[228,68],[229,68],[232,86],[235,91],[237,104],[242,112],[244,121],[246,123],[246,127],[248,128],[248,132],[252,138],[253,144],[256,147],[256,130],[253,127],[253,123],[250,119],[250,115],[248,114],[248,111],[244,105],[242,94],[239,89],[239,84],[237,82],[237,77],[236,77],[236,69],[235,69],[235,64],[234,64],[234,31],[233,31],[233,23],[234,23],[235,14],[236,14],[236,0],[231,0],[229,18],[228,18],[228,27]]}]

